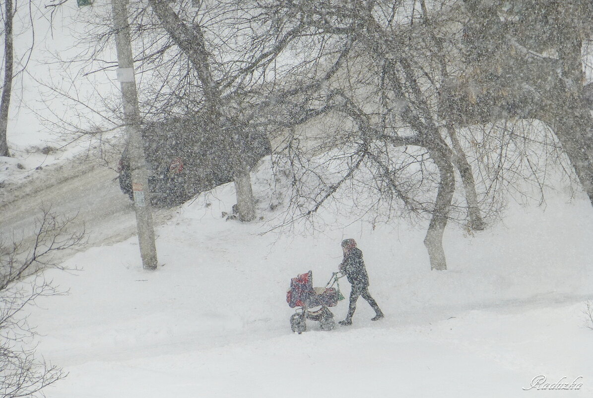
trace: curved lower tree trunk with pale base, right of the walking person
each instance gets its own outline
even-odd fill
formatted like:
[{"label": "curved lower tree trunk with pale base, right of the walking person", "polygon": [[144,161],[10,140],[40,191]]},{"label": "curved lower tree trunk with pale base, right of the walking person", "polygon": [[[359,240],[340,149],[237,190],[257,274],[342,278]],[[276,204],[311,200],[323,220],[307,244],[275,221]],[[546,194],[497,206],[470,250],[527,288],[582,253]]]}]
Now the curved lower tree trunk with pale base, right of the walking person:
[{"label": "curved lower tree trunk with pale base, right of the walking person", "polygon": [[453,165],[447,156],[443,156],[439,150],[429,150],[429,153],[439,168],[441,181],[436,193],[435,208],[432,212],[431,222],[424,238],[424,245],[428,250],[431,270],[442,271],[447,269],[447,260],[445,259],[442,241],[455,191],[455,173]]}]

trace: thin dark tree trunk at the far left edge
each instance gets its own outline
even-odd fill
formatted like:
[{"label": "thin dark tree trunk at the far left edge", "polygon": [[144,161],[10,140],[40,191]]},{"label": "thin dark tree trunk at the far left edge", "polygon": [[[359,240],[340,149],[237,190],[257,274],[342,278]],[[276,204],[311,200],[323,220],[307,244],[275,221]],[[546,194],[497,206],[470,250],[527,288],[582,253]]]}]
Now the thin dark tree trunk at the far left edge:
[{"label": "thin dark tree trunk at the far left edge", "polygon": [[12,18],[14,12],[12,11],[12,0],[4,0],[4,5],[4,86],[2,87],[2,99],[0,100],[0,156],[10,156],[7,128],[12,93],[12,65],[14,63],[12,43]]}]

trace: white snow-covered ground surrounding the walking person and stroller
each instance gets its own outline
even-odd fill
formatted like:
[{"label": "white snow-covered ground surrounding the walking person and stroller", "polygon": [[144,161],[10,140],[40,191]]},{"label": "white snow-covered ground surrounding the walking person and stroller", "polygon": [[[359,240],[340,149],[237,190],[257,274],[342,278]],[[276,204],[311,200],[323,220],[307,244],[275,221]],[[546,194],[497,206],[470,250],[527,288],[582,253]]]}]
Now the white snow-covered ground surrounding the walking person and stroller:
[{"label": "white snow-covered ground surrounding the walking person and stroller", "polygon": [[[591,397],[593,211],[551,195],[511,206],[505,222],[445,236],[448,271],[430,271],[423,227],[377,226],[322,214],[309,234],[261,234],[270,173],[254,176],[263,220],[221,217],[232,185],[173,210],[157,228],[161,267],[141,269],[136,238],[69,258],[51,271],[69,295],[40,301],[38,352],[69,376],[49,398],[92,397]],[[347,225],[346,227],[344,225]],[[115,226],[114,226],[115,227]],[[371,293],[350,327],[291,333],[291,277],[323,286],[343,238],[364,252]],[[342,284],[345,295],[348,284]],[[332,309],[342,319],[347,301]],[[582,383],[578,390],[531,388]]]}]

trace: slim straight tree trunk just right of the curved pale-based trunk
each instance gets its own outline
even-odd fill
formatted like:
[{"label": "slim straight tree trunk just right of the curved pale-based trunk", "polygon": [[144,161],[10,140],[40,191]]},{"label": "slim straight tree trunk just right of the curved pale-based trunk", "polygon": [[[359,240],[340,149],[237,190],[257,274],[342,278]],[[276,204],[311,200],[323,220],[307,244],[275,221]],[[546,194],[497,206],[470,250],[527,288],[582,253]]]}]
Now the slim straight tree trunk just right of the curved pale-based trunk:
[{"label": "slim straight tree trunk just right of the curved pale-based trunk", "polygon": [[484,230],[486,223],[484,223],[480,214],[478,195],[476,194],[476,182],[471,172],[470,163],[467,161],[466,153],[457,139],[457,134],[455,134],[455,128],[452,124],[447,125],[447,132],[453,144],[451,160],[461,175],[461,182],[463,182],[463,188],[466,191],[467,214],[470,217],[469,226],[473,230]]}]

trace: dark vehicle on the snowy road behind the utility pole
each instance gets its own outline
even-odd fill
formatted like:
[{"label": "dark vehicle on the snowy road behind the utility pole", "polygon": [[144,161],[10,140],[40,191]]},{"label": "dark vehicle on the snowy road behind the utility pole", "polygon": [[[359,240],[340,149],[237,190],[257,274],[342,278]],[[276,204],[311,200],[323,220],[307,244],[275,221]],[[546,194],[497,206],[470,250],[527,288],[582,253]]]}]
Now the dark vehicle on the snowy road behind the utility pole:
[{"label": "dark vehicle on the snowy road behind the utility pole", "polygon": [[[177,118],[145,124],[142,143],[148,168],[151,204],[177,206],[203,191],[233,181],[231,156],[224,143],[204,134],[202,118]],[[242,132],[247,132],[244,128]],[[270,141],[263,133],[251,131],[244,137],[244,160],[253,168],[271,153]],[[127,151],[119,165],[119,184],[132,197],[132,179]]]}]

